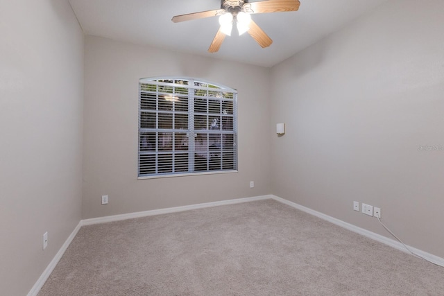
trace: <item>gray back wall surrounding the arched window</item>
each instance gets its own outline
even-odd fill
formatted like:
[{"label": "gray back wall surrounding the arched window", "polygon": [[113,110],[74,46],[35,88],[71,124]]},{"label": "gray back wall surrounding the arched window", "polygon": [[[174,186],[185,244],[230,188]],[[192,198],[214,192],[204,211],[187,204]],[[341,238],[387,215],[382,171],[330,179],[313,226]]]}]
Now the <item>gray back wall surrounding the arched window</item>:
[{"label": "gray back wall surrounding the arched window", "polygon": [[[83,218],[271,193],[269,71],[86,37]],[[137,180],[138,83],[153,76],[202,78],[237,89],[239,173]],[[108,205],[101,205],[101,195],[109,195]]]}]

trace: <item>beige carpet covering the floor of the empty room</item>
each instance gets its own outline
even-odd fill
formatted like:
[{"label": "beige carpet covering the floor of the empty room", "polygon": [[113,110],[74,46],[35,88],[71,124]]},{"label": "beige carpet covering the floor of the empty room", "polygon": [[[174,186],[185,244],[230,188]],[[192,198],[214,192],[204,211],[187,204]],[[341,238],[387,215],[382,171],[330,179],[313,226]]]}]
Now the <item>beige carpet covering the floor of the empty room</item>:
[{"label": "beige carpet covering the floor of the empty room", "polygon": [[82,227],[44,295],[444,295],[444,268],[262,200]]}]

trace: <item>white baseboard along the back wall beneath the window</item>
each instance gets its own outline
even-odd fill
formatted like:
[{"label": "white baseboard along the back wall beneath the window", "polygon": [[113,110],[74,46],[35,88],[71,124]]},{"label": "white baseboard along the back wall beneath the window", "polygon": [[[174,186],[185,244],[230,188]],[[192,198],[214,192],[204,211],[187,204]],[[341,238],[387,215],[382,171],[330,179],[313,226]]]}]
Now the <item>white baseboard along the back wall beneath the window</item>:
[{"label": "white baseboard along the back wall beneath the window", "polygon": [[166,208],[166,209],[154,209],[151,211],[138,211],[135,213],[85,219],[85,220],[81,220],[80,224],[82,226],[83,225],[93,225],[93,224],[107,223],[107,222],[112,222],[112,221],[141,218],[141,217],[146,217],[146,216],[155,216],[155,215],[160,215],[160,214],[176,213],[178,211],[189,211],[190,209],[203,209],[203,208],[207,208],[207,207],[216,207],[216,206],[221,206],[221,205],[226,205],[226,204],[239,204],[241,202],[254,202],[255,200],[268,200],[270,198],[273,198],[273,195],[255,196],[253,198],[238,198],[235,200],[222,200],[220,202],[206,202],[203,204],[191,204],[188,206],[171,207],[171,208]]}]

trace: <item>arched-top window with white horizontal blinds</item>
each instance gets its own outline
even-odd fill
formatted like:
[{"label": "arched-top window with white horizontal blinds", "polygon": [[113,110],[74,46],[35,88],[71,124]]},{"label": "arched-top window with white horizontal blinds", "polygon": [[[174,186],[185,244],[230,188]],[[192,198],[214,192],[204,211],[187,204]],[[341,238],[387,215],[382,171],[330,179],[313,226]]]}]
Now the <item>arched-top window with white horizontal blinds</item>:
[{"label": "arched-top window with white horizontal blinds", "polygon": [[237,92],[191,78],[139,80],[139,178],[237,171]]}]

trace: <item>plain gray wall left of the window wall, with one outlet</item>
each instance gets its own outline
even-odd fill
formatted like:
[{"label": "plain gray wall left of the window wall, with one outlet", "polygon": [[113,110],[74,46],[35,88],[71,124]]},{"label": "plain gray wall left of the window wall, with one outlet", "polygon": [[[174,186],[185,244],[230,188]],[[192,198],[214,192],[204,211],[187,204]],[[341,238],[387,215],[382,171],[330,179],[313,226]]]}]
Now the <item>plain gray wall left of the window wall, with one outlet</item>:
[{"label": "plain gray wall left of the window wall, with one outlet", "polygon": [[81,217],[84,44],[67,1],[0,7],[0,287],[26,295]]}]

